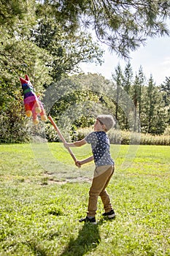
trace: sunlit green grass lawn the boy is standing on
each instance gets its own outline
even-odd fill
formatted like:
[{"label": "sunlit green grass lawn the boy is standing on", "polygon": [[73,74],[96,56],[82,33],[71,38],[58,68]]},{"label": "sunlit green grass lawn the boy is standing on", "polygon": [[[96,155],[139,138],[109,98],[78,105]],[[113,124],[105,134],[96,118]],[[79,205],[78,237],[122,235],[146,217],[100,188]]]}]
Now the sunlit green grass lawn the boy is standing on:
[{"label": "sunlit green grass lawn the boy is standing on", "polygon": [[[33,148],[33,150],[32,150]],[[73,148],[78,159],[90,148]],[[169,146],[114,146],[109,184],[117,217],[98,199],[97,225],[85,216],[93,164],[74,167],[61,143],[0,145],[0,255],[170,255]]]}]

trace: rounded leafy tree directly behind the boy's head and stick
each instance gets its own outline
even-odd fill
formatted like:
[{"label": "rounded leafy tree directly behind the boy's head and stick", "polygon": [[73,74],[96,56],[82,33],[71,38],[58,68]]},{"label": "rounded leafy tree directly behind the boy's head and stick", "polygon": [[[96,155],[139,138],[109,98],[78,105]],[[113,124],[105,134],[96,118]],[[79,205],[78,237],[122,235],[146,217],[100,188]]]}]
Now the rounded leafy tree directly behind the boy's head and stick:
[{"label": "rounded leafy tree directly behind the boy's head and stick", "polygon": [[49,104],[50,115],[57,121],[64,137],[68,138],[69,132],[74,138],[74,132],[80,127],[90,127],[98,114],[112,113],[115,105],[104,94],[109,83],[103,76],[89,73],[64,78],[55,83],[52,90],[47,89],[45,105],[53,101]]}]

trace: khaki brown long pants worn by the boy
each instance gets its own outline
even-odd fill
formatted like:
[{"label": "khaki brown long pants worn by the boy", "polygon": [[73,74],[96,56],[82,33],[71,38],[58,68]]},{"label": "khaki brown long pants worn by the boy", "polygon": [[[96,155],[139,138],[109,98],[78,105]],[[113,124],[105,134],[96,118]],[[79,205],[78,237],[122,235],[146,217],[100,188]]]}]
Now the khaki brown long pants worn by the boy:
[{"label": "khaki brown long pants worn by the boy", "polygon": [[88,217],[94,217],[97,211],[98,196],[101,197],[104,205],[104,211],[109,212],[112,210],[112,204],[110,202],[109,195],[107,194],[107,185],[110,178],[114,173],[115,167],[112,165],[104,165],[96,167],[94,171],[92,185],[89,191],[88,199]]}]

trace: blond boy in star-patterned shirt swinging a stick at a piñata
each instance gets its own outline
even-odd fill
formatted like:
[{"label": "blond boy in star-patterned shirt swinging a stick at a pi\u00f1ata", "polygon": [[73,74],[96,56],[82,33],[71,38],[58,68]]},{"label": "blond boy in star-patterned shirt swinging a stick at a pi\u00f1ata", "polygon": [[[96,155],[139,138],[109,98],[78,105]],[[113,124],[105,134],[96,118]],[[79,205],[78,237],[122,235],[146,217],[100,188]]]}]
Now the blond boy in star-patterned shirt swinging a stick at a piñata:
[{"label": "blond boy in star-patterned shirt swinging a stick at a pi\u00f1ata", "polygon": [[112,208],[112,204],[106,190],[109,180],[115,170],[114,162],[109,153],[109,138],[106,134],[106,132],[112,128],[113,124],[114,119],[111,115],[100,115],[96,118],[94,132],[91,132],[84,139],[74,143],[64,143],[66,148],[83,146],[85,143],[90,143],[93,156],[82,161],[77,161],[76,165],[77,167],[81,167],[81,165],[93,160],[96,165],[93,181],[89,191],[87,216],[80,219],[80,222],[90,222],[92,224],[96,224],[95,215],[97,210],[98,196],[101,197],[102,203],[104,204],[105,212],[102,215],[104,217],[108,217],[109,219],[115,217],[115,211]]}]

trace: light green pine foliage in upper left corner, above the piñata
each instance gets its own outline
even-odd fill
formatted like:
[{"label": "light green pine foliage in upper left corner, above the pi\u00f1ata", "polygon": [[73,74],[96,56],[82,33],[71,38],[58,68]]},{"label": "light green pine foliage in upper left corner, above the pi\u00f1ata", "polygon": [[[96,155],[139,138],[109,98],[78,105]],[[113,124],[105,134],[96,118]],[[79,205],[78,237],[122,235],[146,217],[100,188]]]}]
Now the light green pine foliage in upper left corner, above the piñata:
[{"label": "light green pine foliage in upper left corner, above the pi\u00f1ata", "polygon": [[28,72],[33,79],[37,72],[35,84],[42,85],[43,79],[49,79],[44,65],[49,56],[47,51],[39,49],[28,40],[30,29],[36,23],[35,1],[0,1],[1,81],[19,86],[19,76]]}]

